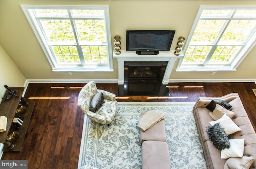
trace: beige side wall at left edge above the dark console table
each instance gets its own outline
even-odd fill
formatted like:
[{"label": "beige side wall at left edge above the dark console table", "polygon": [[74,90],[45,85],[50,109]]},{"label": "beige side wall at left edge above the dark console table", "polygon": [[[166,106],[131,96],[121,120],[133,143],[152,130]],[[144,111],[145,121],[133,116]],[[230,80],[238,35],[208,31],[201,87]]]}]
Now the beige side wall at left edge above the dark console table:
[{"label": "beige side wall at left edge above the dark console table", "polygon": [[0,102],[6,89],[4,85],[9,87],[23,87],[26,81],[17,66],[12,62],[9,56],[6,54],[2,46],[0,46]]}]

